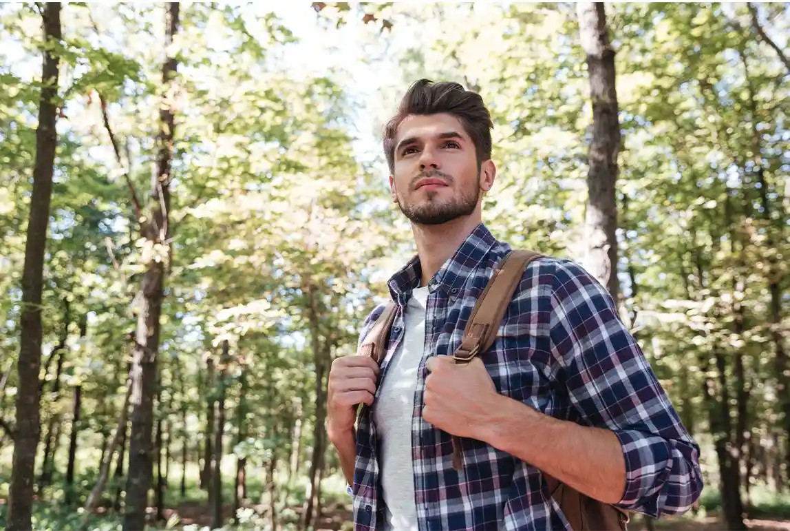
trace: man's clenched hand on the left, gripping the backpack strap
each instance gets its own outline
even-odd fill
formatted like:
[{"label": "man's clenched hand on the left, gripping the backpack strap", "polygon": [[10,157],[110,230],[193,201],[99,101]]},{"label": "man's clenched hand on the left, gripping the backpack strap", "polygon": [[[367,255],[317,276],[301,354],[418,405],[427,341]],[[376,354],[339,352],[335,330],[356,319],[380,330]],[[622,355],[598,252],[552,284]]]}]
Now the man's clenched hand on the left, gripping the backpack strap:
[{"label": "man's clenched hand on the left, gripping the backpack strap", "polygon": [[329,369],[327,431],[335,439],[354,429],[356,406],[373,404],[378,364],[370,356],[345,356]]}]

